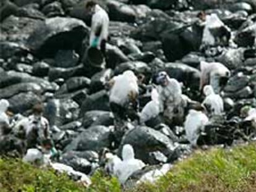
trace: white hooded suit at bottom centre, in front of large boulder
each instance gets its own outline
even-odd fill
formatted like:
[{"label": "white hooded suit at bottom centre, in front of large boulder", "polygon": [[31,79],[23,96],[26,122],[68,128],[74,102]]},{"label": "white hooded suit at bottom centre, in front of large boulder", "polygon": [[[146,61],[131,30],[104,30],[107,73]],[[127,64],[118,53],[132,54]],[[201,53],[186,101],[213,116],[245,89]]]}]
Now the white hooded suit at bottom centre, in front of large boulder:
[{"label": "white hooded suit at bottom centre, in front of large boulder", "polygon": [[139,159],[134,159],[134,149],[130,144],[126,144],[122,148],[122,162],[116,165],[114,175],[124,184],[127,179],[137,170],[145,167],[145,164]]}]

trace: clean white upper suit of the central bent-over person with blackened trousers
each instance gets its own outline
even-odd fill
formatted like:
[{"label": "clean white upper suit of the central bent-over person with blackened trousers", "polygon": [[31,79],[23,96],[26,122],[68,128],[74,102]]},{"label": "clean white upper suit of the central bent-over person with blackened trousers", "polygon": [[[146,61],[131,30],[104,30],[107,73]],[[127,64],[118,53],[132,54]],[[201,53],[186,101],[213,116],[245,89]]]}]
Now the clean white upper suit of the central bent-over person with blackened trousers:
[{"label": "clean white upper suit of the central bent-over person with blackened trousers", "polygon": [[127,70],[122,75],[117,75],[113,78],[114,85],[110,90],[109,102],[114,102],[120,106],[124,106],[129,102],[131,96],[137,97],[139,95],[139,86],[137,77],[134,72]]}]

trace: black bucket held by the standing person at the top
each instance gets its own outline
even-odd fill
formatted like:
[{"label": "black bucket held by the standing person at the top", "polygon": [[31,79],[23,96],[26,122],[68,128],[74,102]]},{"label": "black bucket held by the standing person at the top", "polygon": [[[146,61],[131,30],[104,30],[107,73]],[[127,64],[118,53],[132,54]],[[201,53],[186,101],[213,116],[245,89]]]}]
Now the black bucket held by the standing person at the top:
[{"label": "black bucket held by the standing person at the top", "polygon": [[93,67],[102,67],[105,62],[102,52],[97,48],[87,49],[86,61]]}]

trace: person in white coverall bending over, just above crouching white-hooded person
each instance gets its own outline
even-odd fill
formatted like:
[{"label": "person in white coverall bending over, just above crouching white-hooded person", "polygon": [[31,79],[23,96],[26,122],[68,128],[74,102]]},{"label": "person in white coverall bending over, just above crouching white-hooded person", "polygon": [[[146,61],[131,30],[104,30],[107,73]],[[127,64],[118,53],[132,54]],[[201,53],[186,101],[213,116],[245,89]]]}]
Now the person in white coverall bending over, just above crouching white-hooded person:
[{"label": "person in white coverall bending over, just above crouching white-hooded person", "polygon": [[219,94],[221,88],[226,85],[228,78],[230,77],[230,71],[220,62],[200,62],[200,90],[203,90],[203,86],[211,85],[216,94]]}]

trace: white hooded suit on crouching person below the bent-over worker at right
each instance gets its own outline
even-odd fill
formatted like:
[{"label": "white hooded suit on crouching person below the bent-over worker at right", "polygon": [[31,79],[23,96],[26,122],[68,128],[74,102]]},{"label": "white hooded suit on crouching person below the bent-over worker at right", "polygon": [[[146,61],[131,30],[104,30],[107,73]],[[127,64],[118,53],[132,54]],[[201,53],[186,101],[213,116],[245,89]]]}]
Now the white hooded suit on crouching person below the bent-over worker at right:
[{"label": "white hooded suit on crouching person below the bent-over worker at right", "polygon": [[203,100],[203,105],[210,107],[210,114],[220,115],[224,111],[223,99],[219,94],[215,94],[211,85],[206,85],[203,88],[203,93],[206,98]]}]

